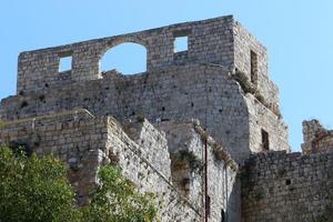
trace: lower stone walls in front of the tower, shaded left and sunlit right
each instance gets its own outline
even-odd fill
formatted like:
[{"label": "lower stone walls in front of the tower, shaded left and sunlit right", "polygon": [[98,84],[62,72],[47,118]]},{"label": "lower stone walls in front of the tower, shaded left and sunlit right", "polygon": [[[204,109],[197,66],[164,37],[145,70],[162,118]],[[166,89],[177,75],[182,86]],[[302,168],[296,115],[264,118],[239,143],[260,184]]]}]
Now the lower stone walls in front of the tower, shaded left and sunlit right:
[{"label": "lower stone walls in front of the tower, shaded left and sunlit right", "polygon": [[[141,192],[158,194],[162,221],[198,221],[202,211],[202,163],[204,131],[198,123],[163,122],[160,132],[147,120],[122,127],[111,118],[94,118],[85,110],[6,122],[0,143],[26,145],[38,154],[53,153],[70,168],[69,180],[84,203],[97,183],[100,165],[117,163]],[[167,138],[168,140],[167,140]],[[171,145],[170,148],[168,145]],[[199,171],[186,171],[188,195],[173,185],[169,150],[185,149],[201,162]],[[221,211],[239,221],[239,193],[235,195],[238,164],[209,137],[210,221],[221,221]],[[176,175],[178,176],[178,175]]]}]

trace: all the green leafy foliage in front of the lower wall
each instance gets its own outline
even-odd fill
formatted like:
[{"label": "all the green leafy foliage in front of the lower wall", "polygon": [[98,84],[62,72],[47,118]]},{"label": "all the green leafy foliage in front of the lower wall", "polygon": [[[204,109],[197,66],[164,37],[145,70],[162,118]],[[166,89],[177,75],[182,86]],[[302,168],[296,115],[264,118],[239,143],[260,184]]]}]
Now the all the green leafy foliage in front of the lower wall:
[{"label": "all the green leafy foliage in front of the lower wall", "polygon": [[119,168],[101,168],[100,183],[83,208],[75,204],[67,173],[52,155],[27,157],[0,148],[0,222],[157,221],[153,195],[138,193]]}]

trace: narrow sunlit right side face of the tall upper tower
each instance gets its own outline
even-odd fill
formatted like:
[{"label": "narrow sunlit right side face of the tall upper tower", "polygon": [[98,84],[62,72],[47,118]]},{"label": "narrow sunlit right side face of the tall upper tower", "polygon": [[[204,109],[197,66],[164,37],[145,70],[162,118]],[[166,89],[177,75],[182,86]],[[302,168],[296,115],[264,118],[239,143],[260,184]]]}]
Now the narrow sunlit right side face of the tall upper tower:
[{"label": "narrow sunlit right side face of the tall upper tower", "polygon": [[[256,64],[251,64],[251,51]],[[234,65],[249,110],[250,150],[262,152],[262,130],[269,133],[271,150],[290,151],[287,127],[280,113],[278,87],[269,79],[266,49],[239,22],[234,24]],[[251,67],[254,78],[251,77]]]}]

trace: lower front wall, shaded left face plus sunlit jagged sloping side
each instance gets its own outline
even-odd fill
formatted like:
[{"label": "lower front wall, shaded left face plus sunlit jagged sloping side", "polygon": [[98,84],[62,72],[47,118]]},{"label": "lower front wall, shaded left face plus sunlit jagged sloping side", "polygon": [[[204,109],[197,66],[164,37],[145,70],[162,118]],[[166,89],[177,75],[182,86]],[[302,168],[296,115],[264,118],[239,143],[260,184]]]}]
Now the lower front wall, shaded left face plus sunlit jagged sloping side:
[{"label": "lower front wall, shaded left face plus sunlit jagged sloping side", "polygon": [[139,191],[157,194],[161,221],[199,221],[199,210],[170,181],[164,134],[147,121],[127,129],[133,138],[140,138],[140,143],[131,140],[114,119],[94,118],[79,110],[6,122],[0,144],[26,145],[38,154],[53,153],[63,160],[81,204],[98,182],[98,169],[117,163]]}]

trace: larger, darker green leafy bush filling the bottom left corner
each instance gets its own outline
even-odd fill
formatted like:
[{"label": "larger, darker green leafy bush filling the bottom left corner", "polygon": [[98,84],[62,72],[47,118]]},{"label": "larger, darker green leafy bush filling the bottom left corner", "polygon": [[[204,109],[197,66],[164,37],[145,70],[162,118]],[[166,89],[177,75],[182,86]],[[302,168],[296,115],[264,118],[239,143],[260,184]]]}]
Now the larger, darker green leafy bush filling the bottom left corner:
[{"label": "larger, darker green leafy bush filling the bottom left corner", "polygon": [[52,155],[0,149],[0,221],[80,221],[67,169]]}]

